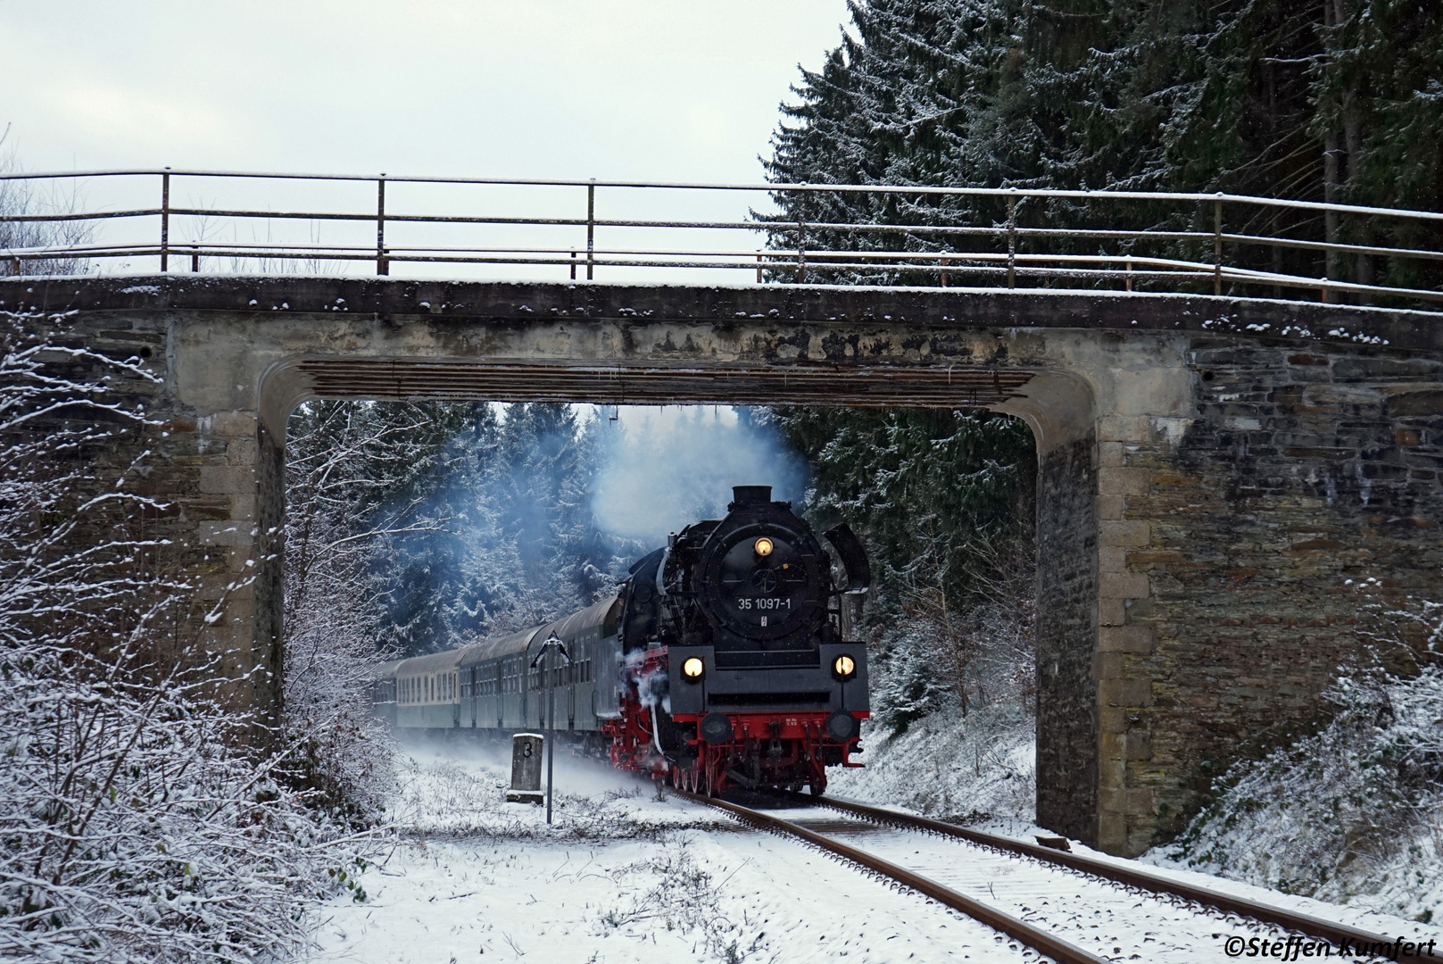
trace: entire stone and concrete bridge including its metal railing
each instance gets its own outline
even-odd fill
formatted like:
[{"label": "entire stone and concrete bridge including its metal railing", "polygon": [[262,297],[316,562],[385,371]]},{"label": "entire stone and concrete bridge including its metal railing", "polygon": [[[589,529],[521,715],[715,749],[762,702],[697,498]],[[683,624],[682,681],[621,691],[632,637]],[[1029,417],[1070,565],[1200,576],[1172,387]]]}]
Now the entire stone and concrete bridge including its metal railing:
[{"label": "entire stone and concrete bridge including its metal railing", "polygon": [[[1179,831],[1250,745],[1316,717],[1372,605],[1443,600],[1443,315],[1336,303],[1443,299],[1426,283],[1443,250],[1417,241],[1443,214],[1229,195],[84,176],[89,196],[154,179],[160,205],[0,218],[110,232],[0,251],[12,276],[0,313],[51,319],[62,338],[139,358],[159,378],[115,384],[159,421],[139,483],[166,507],[147,521],[169,540],[159,564],[199,586],[176,619],[177,654],[199,642],[235,674],[257,670],[241,698],[263,714],[278,707],[283,652],[286,421],[306,398],[941,406],[1025,419],[1039,465],[1038,820],[1110,853]],[[374,193],[365,211],[180,208],[177,178]],[[407,188],[504,193],[446,214],[416,193],[403,214]],[[518,216],[522,189],[570,192],[584,216]],[[606,198],[644,190],[802,199],[794,212],[895,193],[886,209],[900,214],[608,215]],[[1124,202],[1143,212],[1131,228],[1076,222]],[[208,235],[216,218],[313,234],[222,242]],[[1367,222],[1377,231],[1355,234],[1375,238],[1388,218],[1411,225],[1397,235],[1408,248],[1338,240],[1339,224]],[[1333,227],[1319,240],[1323,219]],[[127,224],[159,231],[126,235]],[[315,225],[374,235],[320,244]],[[423,228],[436,234],[404,235]],[[462,228],[504,234],[446,234]],[[522,228],[544,235],[540,247],[505,234]],[[696,241],[746,231],[765,232],[765,250]],[[75,277],[147,258],[160,273]],[[206,273],[227,261],[260,274]],[[277,274],[287,263],[313,276]],[[372,264],[374,277],[354,277]],[[553,280],[391,277],[417,264]],[[1354,283],[1338,280],[1345,264]],[[593,280],[623,268],[681,283]],[[1413,286],[1377,286],[1375,268]],[[694,280],[711,270],[746,284]],[[1299,292],[1319,300],[1283,299]]]}]

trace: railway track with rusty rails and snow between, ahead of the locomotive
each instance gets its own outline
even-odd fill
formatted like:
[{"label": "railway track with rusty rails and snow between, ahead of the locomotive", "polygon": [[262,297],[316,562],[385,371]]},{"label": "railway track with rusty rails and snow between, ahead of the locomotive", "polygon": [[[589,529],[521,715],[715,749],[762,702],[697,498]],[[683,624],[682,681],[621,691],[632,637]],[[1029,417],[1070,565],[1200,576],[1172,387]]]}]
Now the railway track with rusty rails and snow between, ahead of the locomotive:
[{"label": "railway track with rusty rails and snow between, ahead of the locomotive", "polygon": [[[1042,847],[925,817],[846,799],[794,795],[776,798],[786,815],[681,791],[759,830],[791,836],[971,916],[1062,964],[1126,960],[1144,951],[1152,960],[1228,960],[1225,941],[1251,924],[1266,941],[1326,941],[1329,957],[1408,960],[1384,937],[1294,911],[1221,893],[1071,851]],[[801,808],[801,810],[798,810]],[[811,814],[807,812],[811,810]],[[817,811],[846,814],[828,818]],[[799,814],[799,815],[798,815]],[[924,851],[918,836],[934,841]],[[848,843],[840,837],[866,837]],[[937,838],[948,841],[941,847]],[[925,854],[925,856],[924,856]],[[1030,869],[1019,872],[1019,864]],[[1079,876],[1085,875],[1085,876]],[[999,893],[994,883],[1001,888]],[[1114,937],[1110,928],[1115,928]],[[1267,931],[1273,931],[1267,934]],[[1071,938],[1071,939],[1069,939]],[[1128,942],[1133,948],[1127,948]],[[1193,945],[1201,942],[1202,947]],[[1089,947],[1092,950],[1089,950]],[[1341,948],[1361,952],[1339,954]],[[1244,945],[1241,955],[1248,955]],[[1291,948],[1289,948],[1291,952]],[[1255,952],[1253,957],[1257,957]],[[1281,954],[1273,954],[1281,957]],[[1263,957],[1268,957],[1267,950]],[[1299,955],[1300,957],[1300,955]],[[1414,960],[1423,960],[1421,955]],[[1296,957],[1293,960],[1297,960]],[[1431,958],[1429,958],[1431,960]]]}]

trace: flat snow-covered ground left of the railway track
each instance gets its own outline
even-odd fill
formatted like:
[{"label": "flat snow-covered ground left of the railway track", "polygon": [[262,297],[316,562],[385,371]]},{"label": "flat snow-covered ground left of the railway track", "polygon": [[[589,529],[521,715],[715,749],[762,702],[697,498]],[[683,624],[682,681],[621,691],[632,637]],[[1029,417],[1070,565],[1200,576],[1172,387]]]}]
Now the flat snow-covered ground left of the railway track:
[{"label": "flat snow-covered ground left of the railway track", "polygon": [[404,833],[313,964],[1029,960],[970,918],[649,782],[557,758],[556,823],[494,752],[411,750]]}]

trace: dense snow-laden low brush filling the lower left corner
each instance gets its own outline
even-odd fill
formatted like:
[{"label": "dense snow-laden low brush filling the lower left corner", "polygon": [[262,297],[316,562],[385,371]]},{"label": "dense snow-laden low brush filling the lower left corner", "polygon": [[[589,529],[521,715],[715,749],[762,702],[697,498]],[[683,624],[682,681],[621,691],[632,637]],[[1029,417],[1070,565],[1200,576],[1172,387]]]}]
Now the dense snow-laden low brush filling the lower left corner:
[{"label": "dense snow-laden low brush filling the lower left corner", "polygon": [[0,957],[297,950],[307,908],[364,857],[274,779],[274,759],[238,749],[250,722],[211,698],[211,680],[152,675],[139,649],[7,647]]}]

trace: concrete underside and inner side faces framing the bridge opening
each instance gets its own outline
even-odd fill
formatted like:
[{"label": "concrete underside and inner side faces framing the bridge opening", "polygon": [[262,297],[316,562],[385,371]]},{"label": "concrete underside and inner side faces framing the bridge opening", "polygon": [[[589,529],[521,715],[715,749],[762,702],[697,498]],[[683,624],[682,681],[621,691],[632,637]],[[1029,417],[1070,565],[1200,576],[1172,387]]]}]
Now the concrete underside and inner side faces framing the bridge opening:
[{"label": "concrete underside and inner side faces framing the bridge opening", "polygon": [[[261,489],[268,494],[258,505],[261,531],[283,531],[286,423],[296,406],[312,398],[991,408],[1022,419],[1036,449],[1036,694],[1029,697],[1035,698],[1036,804],[1045,825],[1095,840],[1098,456],[1095,391],[1085,378],[1066,371],[955,365],[811,374],[745,364],[289,358],[270,365],[261,380],[260,442],[270,465],[261,473]],[[283,547],[264,556],[278,557],[276,550]],[[281,647],[281,567],[270,564],[261,582],[260,609],[276,613],[268,631]]]}]

